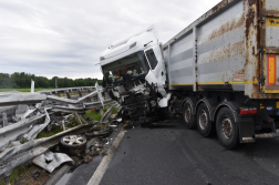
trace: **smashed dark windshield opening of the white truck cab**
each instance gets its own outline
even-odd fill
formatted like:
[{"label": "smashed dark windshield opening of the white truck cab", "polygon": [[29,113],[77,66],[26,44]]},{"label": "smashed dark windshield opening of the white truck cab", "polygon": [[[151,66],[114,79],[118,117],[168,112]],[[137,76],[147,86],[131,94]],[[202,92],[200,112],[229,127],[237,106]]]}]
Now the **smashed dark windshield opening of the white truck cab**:
[{"label": "smashed dark windshield opening of the white truck cab", "polygon": [[144,52],[137,52],[102,66],[107,85],[118,85],[123,81],[147,74],[149,65]]}]

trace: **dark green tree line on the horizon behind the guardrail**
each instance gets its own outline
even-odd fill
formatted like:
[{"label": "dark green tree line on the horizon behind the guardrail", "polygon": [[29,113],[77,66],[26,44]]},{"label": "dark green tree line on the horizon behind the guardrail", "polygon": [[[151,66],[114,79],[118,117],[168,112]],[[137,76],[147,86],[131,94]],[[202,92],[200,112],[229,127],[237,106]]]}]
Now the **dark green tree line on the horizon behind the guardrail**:
[{"label": "dark green tree line on the horizon behind the guardrail", "polygon": [[68,79],[53,76],[48,79],[44,76],[35,76],[24,72],[14,72],[12,74],[0,73],[0,89],[23,89],[31,86],[31,80],[34,81],[34,88],[74,88],[74,86],[94,86],[97,82],[102,84],[102,80],[97,79]]}]

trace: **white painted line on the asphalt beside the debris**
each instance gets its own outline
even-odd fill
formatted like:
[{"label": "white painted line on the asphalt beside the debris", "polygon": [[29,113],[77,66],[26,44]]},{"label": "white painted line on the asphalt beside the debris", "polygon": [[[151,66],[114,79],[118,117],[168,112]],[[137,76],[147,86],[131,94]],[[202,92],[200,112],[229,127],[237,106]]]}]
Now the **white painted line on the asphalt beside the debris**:
[{"label": "white painted line on the asphalt beside the debris", "polygon": [[108,167],[113,156],[114,156],[114,152],[117,150],[123,136],[124,136],[125,132],[122,131],[118,133],[118,135],[116,136],[115,141],[113,142],[113,145],[111,147],[111,150],[107,152],[107,155],[104,156],[104,158],[102,160],[102,162],[100,163],[100,165],[97,166],[95,173],[93,174],[93,176],[90,178],[87,185],[99,185],[105,174],[106,168]]}]

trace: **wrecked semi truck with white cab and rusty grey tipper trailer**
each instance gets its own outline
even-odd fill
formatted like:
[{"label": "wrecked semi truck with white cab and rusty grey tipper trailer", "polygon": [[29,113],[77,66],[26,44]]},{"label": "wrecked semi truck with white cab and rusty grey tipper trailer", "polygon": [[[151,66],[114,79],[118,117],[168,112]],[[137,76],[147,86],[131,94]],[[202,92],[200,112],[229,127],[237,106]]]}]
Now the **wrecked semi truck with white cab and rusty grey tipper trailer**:
[{"label": "wrecked semi truck with white cab and rusty grey tipper trailer", "polygon": [[123,120],[182,114],[220,144],[279,136],[279,1],[223,0],[161,43],[152,27],[100,58]]}]

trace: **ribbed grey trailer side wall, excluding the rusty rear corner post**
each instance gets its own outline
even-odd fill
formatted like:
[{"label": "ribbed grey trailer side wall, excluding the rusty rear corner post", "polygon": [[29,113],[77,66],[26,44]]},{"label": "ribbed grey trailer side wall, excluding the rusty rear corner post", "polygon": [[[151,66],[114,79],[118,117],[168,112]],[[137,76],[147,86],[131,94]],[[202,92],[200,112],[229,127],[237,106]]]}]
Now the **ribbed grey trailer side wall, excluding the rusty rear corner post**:
[{"label": "ribbed grey trailer side wall, excluding the rusty rear corner post", "polygon": [[244,4],[244,1],[220,3],[218,11],[208,11],[165,44],[170,90],[245,91]]}]

